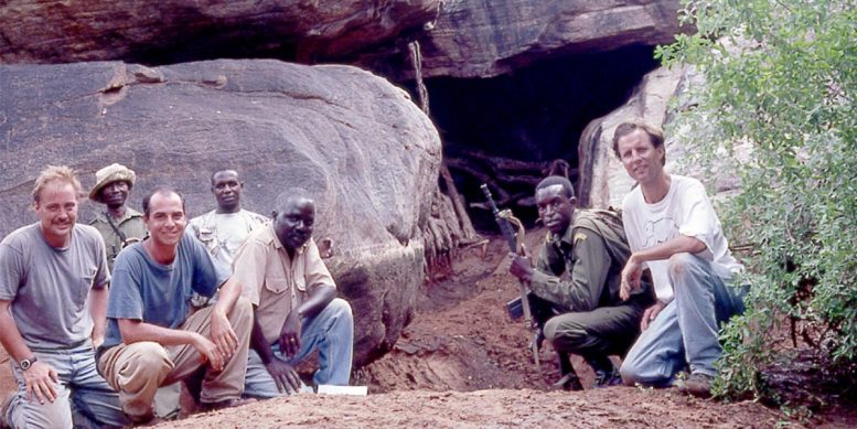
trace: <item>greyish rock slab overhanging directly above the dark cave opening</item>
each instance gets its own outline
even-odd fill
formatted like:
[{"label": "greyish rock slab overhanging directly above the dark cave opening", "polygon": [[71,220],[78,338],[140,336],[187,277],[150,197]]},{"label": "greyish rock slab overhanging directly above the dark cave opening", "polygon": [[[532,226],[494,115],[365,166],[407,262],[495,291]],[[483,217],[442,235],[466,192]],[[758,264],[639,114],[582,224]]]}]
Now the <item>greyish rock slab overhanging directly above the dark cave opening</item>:
[{"label": "greyish rock slab overhanging directly above the dark cave opening", "polygon": [[488,77],[540,58],[668,43],[677,0],[448,0],[419,35],[424,76]]}]

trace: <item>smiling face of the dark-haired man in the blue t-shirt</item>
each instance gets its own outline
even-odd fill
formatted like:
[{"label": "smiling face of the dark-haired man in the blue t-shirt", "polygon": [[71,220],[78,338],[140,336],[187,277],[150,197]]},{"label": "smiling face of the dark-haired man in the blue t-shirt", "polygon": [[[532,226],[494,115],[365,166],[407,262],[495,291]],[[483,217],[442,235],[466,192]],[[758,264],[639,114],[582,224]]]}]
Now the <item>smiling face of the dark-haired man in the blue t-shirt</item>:
[{"label": "smiling face of the dark-haired man in the blue t-shirt", "polygon": [[154,245],[178,246],[188,224],[181,196],[174,192],[156,192],[149,200],[143,222]]}]

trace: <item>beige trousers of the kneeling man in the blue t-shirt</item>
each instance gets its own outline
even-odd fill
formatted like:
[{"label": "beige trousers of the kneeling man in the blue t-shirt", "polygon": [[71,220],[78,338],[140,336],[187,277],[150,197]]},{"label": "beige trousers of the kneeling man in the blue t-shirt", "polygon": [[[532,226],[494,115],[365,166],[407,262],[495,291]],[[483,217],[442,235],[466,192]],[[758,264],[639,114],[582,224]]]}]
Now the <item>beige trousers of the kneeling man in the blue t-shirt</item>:
[{"label": "beige trousers of the kneeling man in the blue t-shirt", "polygon": [[[211,337],[212,307],[193,313],[179,328]],[[247,348],[253,328],[253,305],[238,298],[228,314],[229,323],[238,336],[238,350],[223,371],[208,371],[202,384],[200,400],[203,404],[238,399],[244,393],[247,373]],[[142,341],[119,344],[101,354],[98,369],[107,383],[119,393],[122,410],[135,421],[152,416],[152,404],[158,387],[180,382],[205,364],[205,357],[191,344],[162,346]]]}]

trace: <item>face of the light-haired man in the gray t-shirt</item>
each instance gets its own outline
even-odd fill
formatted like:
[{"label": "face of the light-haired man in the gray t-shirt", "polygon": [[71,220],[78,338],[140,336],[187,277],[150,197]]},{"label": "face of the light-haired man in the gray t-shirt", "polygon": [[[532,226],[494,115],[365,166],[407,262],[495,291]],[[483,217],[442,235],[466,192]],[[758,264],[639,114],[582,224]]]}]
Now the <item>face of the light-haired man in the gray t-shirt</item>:
[{"label": "face of the light-haired man in the gray t-shirt", "polygon": [[72,183],[53,180],[39,192],[34,202],[42,234],[51,246],[63,247],[77,222],[77,192]]}]

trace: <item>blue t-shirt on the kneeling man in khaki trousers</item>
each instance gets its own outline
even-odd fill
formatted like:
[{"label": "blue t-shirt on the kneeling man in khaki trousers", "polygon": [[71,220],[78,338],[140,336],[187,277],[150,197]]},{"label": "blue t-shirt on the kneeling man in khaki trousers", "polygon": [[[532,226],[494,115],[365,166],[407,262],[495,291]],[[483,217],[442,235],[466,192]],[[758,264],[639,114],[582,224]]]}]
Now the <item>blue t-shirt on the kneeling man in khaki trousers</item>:
[{"label": "blue t-shirt on the kneeling man in khaki trousers", "polygon": [[215,261],[205,246],[188,230],[179,242],[175,260],[171,265],[152,259],[142,243],[126,247],[114,266],[103,347],[122,342],[117,319],[178,329],[188,319],[192,293],[195,291],[211,297],[228,278],[228,267]]}]

